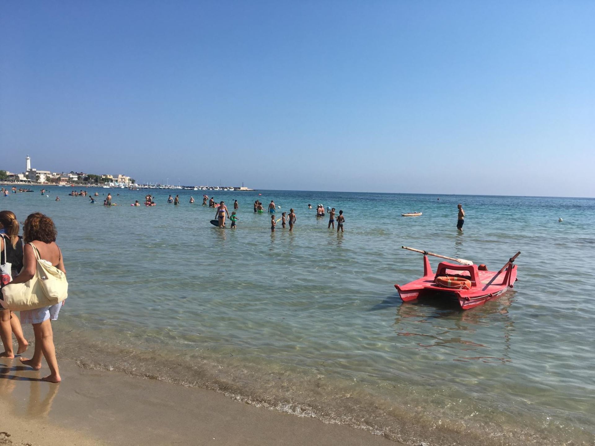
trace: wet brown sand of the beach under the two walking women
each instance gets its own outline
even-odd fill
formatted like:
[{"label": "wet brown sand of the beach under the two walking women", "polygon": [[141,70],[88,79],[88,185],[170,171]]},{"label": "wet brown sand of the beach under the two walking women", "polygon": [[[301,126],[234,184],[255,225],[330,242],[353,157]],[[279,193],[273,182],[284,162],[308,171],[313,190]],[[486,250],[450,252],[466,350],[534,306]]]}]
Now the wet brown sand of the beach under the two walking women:
[{"label": "wet brown sand of the beach under the two walking women", "polygon": [[0,445],[397,444],[214,391],[87,370],[72,361],[60,362],[61,384],[39,381],[47,372],[0,359]]}]

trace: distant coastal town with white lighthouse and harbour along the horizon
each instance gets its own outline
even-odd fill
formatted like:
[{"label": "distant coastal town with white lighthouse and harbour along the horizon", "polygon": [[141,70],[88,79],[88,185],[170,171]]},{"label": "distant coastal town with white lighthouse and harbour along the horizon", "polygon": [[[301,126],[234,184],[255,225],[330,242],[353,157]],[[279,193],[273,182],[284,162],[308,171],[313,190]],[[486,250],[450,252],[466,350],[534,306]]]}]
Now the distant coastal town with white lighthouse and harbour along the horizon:
[{"label": "distant coastal town with white lighthouse and harbour along the horizon", "polygon": [[51,172],[37,170],[31,167],[31,158],[27,155],[26,168],[23,172],[12,173],[0,170],[0,183],[2,184],[43,184],[46,186],[94,186],[120,189],[185,189],[185,190],[239,190],[252,191],[242,186],[173,186],[170,184],[139,184],[134,178],[127,175],[96,175],[85,172]]}]

